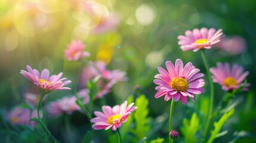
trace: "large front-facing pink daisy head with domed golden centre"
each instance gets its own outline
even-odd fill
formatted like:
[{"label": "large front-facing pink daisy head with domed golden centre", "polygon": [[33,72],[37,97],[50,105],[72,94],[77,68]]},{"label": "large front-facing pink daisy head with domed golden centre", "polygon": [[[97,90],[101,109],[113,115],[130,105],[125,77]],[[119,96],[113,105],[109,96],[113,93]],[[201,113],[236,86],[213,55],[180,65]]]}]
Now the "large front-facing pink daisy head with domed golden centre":
[{"label": "large front-facing pink daisy head with domed golden centre", "polygon": [[194,94],[201,94],[205,92],[203,85],[205,80],[201,79],[204,74],[199,73],[199,69],[196,69],[192,63],[187,63],[183,67],[183,61],[177,59],[174,64],[171,61],[166,61],[166,68],[158,67],[160,74],[156,74],[153,81],[156,85],[158,92],[155,98],[159,98],[165,95],[165,101],[171,98],[174,101],[180,100],[183,104],[187,104],[187,97],[190,97],[194,102]]}]

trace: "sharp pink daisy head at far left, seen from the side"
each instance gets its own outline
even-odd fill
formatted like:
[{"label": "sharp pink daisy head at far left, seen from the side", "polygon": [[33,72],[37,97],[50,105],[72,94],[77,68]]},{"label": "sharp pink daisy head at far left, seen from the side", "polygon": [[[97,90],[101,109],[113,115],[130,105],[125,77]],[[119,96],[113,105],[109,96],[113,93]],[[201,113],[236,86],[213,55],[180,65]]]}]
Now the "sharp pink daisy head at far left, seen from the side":
[{"label": "sharp pink daisy head at far left, seen from the side", "polygon": [[[59,73],[58,75],[49,75],[49,70],[44,69],[40,74],[38,70],[32,69],[30,66],[27,66],[28,71],[21,70],[20,73],[33,82],[36,86],[38,86],[39,92],[43,94],[49,94],[51,91],[55,90],[67,90],[70,88],[63,87],[71,83],[70,80],[66,80],[67,78],[61,78],[63,73]],[[63,81],[65,80],[65,81]]]}]

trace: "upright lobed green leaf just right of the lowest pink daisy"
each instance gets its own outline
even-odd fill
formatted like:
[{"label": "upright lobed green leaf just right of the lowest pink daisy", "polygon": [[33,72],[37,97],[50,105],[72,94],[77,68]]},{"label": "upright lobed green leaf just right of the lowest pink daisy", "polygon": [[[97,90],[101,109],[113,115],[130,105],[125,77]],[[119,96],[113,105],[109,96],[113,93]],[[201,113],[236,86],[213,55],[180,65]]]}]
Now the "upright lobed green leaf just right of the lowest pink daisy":
[{"label": "upright lobed green leaf just right of the lowest pink daisy", "polygon": [[135,106],[138,107],[133,114],[135,120],[135,129],[132,129],[131,132],[137,136],[137,141],[142,139],[147,131],[149,131],[150,126],[147,125],[149,118],[147,115],[149,114],[149,108],[147,105],[149,104],[149,100],[144,95],[140,95],[135,100]]}]

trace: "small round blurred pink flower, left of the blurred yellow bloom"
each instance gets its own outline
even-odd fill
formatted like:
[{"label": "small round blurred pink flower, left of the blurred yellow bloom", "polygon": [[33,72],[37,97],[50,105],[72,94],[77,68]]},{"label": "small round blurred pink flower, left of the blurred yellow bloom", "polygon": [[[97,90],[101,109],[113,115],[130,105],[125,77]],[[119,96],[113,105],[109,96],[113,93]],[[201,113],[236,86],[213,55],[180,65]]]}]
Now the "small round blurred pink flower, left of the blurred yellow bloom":
[{"label": "small round blurred pink flower, left of the blurred yellow bloom", "polygon": [[83,51],[84,50],[84,43],[82,41],[75,41],[72,40],[70,45],[67,45],[67,49],[65,49],[64,57],[67,58],[69,61],[77,61],[84,57],[89,57],[90,52]]}]

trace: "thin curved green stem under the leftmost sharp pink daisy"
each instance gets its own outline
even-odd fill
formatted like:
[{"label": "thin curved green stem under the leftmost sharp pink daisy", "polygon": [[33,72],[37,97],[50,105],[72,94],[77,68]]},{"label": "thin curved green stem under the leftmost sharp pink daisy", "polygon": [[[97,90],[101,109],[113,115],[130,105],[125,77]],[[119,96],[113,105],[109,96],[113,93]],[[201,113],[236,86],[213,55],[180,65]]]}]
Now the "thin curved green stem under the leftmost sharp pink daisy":
[{"label": "thin curved green stem under the leftmost sharp pink daisy", "polygon": [[[40,120],[39,123],[42,126],[42,128],[44,128],[44,130],[51,136],[51,138],[54,139],[54,142],[59,143],[59,141],[57,139],[55,139],[53,135],[51,135],[51,132],[47,129],[47,126],[45,125],[44,121],[42,120],[42,119],[44,119],[44,108],[42,108],[42,99],[44,98],[44,96],[45,96],[45,94],[40,93],[38,105],[36,106],[36,110],[38,112],[38,119]],[[42,108],[42,118],[40,117],[40,114],[39,114],[39,108]]]}]

